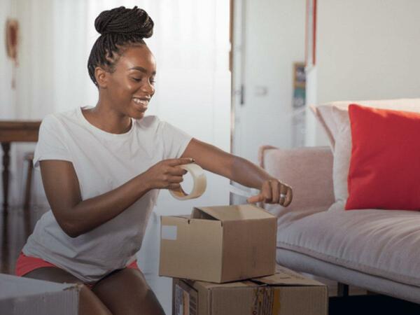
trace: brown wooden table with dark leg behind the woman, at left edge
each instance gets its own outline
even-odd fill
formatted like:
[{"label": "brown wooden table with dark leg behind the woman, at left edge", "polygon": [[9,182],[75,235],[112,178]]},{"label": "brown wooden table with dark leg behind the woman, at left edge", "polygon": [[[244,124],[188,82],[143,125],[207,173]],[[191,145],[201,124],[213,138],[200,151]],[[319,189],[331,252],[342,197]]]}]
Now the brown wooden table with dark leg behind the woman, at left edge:
[{"label": "brown wooden table with dark leg behind the woman, at left edge", "polygon": [[3,211],[8,208],[10,144],[36,142],[41,121],[0,120],[0,143],[3,149]]}]

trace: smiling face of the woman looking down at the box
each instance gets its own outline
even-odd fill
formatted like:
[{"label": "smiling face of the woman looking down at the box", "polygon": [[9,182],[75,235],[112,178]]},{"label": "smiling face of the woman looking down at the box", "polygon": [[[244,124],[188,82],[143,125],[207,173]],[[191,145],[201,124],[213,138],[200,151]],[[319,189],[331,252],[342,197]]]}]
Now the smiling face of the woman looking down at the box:
[{"label": "smiling face of the woman looking down at the box", "polygon": [[115,71],[108,73],[106,97],[113,109],[123,116],[143,118],[155,94],[155,74],[155,57],[146,45],[127,48]]}]

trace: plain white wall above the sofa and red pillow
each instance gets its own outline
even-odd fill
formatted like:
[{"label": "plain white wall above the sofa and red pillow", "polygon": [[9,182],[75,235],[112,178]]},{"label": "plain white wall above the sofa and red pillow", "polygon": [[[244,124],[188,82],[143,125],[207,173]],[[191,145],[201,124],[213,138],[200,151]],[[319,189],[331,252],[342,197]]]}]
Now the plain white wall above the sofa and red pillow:
[{"label": "plain white wall above the sofa and red pillow", "polygon": [[[420,1],[318,0],[317,9],[316,74],[308,81],[316,104],[420,97]],[[315,144],[325,143],[317,127]]]}]

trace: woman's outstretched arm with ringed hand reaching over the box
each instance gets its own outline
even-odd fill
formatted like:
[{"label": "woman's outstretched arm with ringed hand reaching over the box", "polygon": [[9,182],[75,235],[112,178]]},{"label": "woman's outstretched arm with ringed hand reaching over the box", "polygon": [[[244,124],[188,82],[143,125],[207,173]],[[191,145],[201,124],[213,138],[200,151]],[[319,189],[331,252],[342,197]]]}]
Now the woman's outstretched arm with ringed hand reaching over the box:
[{"label": "woman's outstretched arm with ringed hand reaching over the box", "polygon": [[198,165],[210,172],[261,190],[260,194],[248,198],[248,202],[279,203],[284,207],[292,202],[293,191],[285,183],[248,160],[222,151],[216,146],[192,139],[183,156],[195,159]]}]

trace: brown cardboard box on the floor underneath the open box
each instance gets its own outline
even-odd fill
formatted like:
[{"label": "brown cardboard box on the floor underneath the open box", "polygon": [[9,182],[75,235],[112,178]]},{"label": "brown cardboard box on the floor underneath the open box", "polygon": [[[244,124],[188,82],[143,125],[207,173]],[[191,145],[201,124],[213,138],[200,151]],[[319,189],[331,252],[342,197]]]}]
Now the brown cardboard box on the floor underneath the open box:
[{"label": "brown cardboard box on the floor underneath the open box", "polygon": [[174,279],[173,315],[327,315],[323,283],[284,267],[248,281],[209,283]]}]

